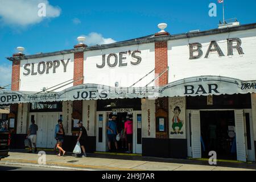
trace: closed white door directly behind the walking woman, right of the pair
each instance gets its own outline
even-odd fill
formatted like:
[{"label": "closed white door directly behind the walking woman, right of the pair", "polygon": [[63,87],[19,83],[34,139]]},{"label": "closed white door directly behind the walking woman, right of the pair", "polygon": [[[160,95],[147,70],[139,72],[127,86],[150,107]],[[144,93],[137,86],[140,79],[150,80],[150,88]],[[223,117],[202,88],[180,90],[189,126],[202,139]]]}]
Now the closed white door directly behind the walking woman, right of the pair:
[{"label": "closed white door directly behind the walking woman, right of the pair", "polygon": [[59,113],[48,113],[47,114],[47,148],[53,148],[56,140],[54,138],[55,125],[59,119]]}]

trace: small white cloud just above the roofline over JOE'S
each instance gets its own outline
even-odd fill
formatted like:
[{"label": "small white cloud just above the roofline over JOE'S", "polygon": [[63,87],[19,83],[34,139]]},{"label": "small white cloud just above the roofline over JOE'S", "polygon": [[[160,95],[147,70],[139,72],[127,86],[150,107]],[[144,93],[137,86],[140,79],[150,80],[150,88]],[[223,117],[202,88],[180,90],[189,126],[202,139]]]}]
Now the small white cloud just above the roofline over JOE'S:
[{"label": "small white cloud just above the roofline over JOE'S", "polygon": [[112,38],[104,38],[101,34],[98,34],[97,32],[91,32],[89,35],[82,36],[85,36],[85,44],[87,44],[88,46],[95,46],[97,44],[111,44],[116,42]]}]

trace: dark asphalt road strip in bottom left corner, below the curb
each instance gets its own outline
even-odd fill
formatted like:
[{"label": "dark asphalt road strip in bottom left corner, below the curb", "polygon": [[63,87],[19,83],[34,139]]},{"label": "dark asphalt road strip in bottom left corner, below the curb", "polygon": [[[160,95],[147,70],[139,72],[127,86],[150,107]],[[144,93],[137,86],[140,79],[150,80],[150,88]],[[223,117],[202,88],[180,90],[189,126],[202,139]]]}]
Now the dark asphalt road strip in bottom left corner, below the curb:
[{"label": "dark asphalt road strip in bottom left corner, below the curb", "polygon": [[33,167],[21,165],[1,164],[0,171],[71,171],[72,169],[59,169],[49,167]]}]

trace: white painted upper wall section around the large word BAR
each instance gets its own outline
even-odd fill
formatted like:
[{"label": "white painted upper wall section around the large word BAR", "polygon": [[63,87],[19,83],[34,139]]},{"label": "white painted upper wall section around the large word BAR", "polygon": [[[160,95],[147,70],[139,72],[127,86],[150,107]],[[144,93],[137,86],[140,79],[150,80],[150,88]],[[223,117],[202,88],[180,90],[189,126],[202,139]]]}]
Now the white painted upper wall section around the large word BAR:
[{"label": "white painted upper wall section around the large word BAR", "polygon": [[[234,49],[233,56],[228,54],[228,38],[240,38],[244,55],[239,55]],[[205,54],[212,40],[216,40],[224,57],[211,53],[208,59]],[[189,60],[189,43],[202,44],[203,56],[200,59]],[[193,76],[226,76],[240,80],[256,80],[256,29],[200,36],[190,39],[168,41],[168,65],[170,67],[168,81],[176,81]]]}]

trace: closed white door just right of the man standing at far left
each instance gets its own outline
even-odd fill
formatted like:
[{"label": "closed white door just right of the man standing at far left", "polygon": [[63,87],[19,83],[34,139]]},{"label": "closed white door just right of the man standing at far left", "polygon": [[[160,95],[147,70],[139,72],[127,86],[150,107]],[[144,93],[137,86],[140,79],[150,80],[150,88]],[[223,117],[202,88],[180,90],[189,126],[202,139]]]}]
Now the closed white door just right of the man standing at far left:
[{"label": "closed white door just right of the man standing at far left", "polygon": [[46,147],[47,145],[47,114],[37,114],[36,125],[38,125],[38,133],[36,135],[36,146]]}]

